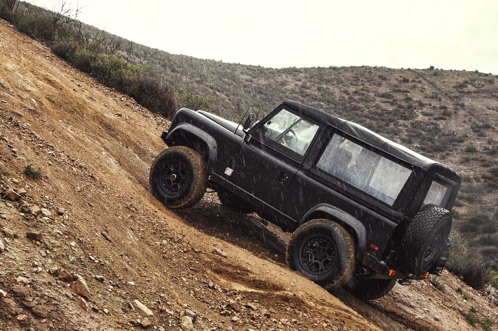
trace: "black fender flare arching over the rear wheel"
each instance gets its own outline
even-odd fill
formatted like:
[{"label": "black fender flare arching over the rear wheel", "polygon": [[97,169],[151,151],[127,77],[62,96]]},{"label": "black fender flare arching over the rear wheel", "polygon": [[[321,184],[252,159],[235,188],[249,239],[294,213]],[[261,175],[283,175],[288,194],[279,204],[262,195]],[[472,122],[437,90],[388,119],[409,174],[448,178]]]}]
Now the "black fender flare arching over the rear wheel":
[{"label": "black fender flare arching over the rear wheel", "polygon": [[299,225],[316,218],[330,219],[351,231],[351,234],[356,239],[357,254],[367,249],[367,231],[362,222],[356,217],[337,207],[322,203],[308,211],[299,221]]}]

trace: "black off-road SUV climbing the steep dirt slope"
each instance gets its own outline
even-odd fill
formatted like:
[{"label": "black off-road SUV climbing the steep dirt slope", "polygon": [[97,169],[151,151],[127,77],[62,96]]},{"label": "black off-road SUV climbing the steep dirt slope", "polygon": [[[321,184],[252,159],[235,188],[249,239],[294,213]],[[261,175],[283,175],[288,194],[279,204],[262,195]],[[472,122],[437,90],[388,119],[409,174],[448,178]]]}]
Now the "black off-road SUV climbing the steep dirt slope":
[{"label": "black off-road SUV climbing the steep dirt slope", "polygon": [[454,170],[293,101],[252,120],[180,109],[150,168],[153,195],[180,209],[211,187],[227,207],[293,232],[293,270],[361,299],[441,275],[461,181]]}]

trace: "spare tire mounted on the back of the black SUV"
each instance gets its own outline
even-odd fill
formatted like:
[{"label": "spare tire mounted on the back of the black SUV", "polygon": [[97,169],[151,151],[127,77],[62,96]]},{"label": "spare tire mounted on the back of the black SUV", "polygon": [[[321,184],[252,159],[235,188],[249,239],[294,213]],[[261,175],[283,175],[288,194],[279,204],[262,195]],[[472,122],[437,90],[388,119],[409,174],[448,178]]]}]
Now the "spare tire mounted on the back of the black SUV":
[{"label": "spare tire mounted on the back of the black SUV", "polygon": [[402,240],[405,268],[421,276],[438,260],[451,231],[451,214],[433,204],[415,215]]}]

